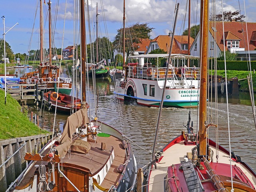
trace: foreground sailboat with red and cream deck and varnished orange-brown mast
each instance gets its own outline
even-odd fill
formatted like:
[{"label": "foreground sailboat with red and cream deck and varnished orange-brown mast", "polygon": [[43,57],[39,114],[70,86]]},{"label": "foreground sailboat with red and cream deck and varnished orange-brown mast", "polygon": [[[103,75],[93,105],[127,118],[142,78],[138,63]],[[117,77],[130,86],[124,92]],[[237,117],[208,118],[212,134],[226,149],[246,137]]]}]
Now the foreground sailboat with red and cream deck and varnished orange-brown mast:
[{"label": "foreground sailboat with red and cream deck and varnished orange-brown mast", "polygon": [[[217,118],[214,120],[212,116],[212,118],[207,117],[207,112],[210,111],[206,110],[208,81],[208,6],[208,0],[201,0],[200,24],[202,51],[200,57],[199,130],[197,132],[196,128],[193,127],[189,114],[186,125],[187,131],[182,132],[181,135],[170,140],[162,150],[156,152],[155,146],[160,123],[160,110],[152,158],[148,168],[144,170],[143,186],[141,184],[140,188],[137,188],[137,191],[256,191],[256,172],[242,160],[242,157],[231,151],[231,146],[229,150],[220,146],[218,139],[218,120]],[[216,138],[212,140],[209,138],[210,130],[216,130]],[[226,138],[226,140],[230,140],[230,133],[229,138]],[[140,175],[142,172],[140,172]]]}]

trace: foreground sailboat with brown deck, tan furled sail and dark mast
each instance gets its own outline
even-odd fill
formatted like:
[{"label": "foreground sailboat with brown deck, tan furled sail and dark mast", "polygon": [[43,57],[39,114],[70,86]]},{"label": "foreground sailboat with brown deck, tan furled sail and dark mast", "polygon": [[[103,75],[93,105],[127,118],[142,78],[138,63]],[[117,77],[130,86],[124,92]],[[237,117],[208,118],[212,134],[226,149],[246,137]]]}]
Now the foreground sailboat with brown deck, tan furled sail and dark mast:
[{"label": "foreground sailboat with brown deck, tan furled sail and dark mast", "polygon": [[70,115],[58,134],[38,154],[27,153],[26,172],[14,192],[130,191],[136,160],[126,137],[114,127],[88,119],[84,0],[80,0],[82,109]]}]

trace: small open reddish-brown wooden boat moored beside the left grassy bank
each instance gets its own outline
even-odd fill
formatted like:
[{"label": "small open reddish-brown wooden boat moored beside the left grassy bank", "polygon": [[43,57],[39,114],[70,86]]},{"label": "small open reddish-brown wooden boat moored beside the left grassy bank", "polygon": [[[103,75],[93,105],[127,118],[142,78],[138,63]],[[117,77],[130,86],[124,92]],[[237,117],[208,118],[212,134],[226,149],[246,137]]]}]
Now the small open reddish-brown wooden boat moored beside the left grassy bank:
[{"label": "small open reddish-brown wooden boat moored beside the left grassy bank", "polygon": [[44,100],[49,110],[57,108],[58,112],[76,112],[81,108],[81,99],[63,93],[49,91],[44,94]]}]

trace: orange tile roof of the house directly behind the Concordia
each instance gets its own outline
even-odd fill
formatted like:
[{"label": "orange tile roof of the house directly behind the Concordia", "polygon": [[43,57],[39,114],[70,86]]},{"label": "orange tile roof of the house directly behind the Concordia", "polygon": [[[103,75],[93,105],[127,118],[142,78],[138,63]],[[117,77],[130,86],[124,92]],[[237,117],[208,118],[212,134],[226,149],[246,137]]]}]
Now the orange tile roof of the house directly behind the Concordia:
[{"label": "orange tile roof of the house directly behind the Concordia", "polygon": [[[168,35],[160,35],[154,38],[151,42],[157,42],[160,49],[169,52],[171,40],[171,37]],[[190,47],[193,42],[194,38],[190,37]],[[180,50],[178,43],[188,44],[188,36],[174,35],[174,42],[172,44],[172,54],[188,54],[188,50]]]}]

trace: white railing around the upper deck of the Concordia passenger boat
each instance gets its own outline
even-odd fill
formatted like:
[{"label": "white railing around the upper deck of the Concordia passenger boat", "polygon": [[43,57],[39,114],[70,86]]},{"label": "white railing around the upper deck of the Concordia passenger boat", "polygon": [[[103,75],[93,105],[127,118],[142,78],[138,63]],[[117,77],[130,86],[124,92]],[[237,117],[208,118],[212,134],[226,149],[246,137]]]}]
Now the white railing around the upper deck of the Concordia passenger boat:
[{"label": "white railing around the upper deck of the Concordia passenger boat", "polygon": [[[129,66],[128,77],[140,78],[147,80],[164,80],[166,76],[166,67],[141,67]],[[199,79],[199,68],[192,67],[170,67],[168,70],[168,79],[186,80],[186,79]]]}]

